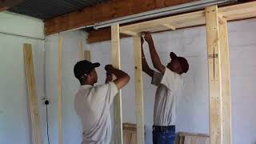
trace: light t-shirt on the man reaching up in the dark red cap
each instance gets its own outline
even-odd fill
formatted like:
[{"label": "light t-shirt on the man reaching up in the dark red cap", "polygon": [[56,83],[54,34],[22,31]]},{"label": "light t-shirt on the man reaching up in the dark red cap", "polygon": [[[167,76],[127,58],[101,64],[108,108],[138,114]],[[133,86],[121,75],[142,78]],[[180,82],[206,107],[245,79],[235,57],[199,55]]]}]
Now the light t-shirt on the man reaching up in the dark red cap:
[{"label": "light t-shirt on the man reaching up in the dark red cap", "polygon": [[152,84],[158,86],[154,100],[154,125],[175,125],[177,97],[181,94],[184,86],[182,76],[166,67],[165,74],[154,73]]}]

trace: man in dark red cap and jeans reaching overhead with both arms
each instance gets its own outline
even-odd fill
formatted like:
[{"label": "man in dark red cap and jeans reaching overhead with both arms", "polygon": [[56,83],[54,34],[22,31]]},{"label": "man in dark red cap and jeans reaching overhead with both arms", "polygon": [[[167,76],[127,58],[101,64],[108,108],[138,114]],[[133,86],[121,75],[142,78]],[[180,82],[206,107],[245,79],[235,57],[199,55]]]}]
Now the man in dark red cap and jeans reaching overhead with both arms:
[{"label": "man in dark red cap and jeans reaching overhead with both arms", "polygon": [[[181,74],[189,70],[189,64],[186,58],[177,57],[171,52],[170,62],[167,66],[162,65],[151,34],[145,32],[144,38],[149,44],[154,68],[158,70],[155,72],[150,69],[142,47],[142,70],[152,78],[152,84],[158,86],[154,101],[153,143],[174,144],[177,97],[180,96],[184,83]],[[142,44],[143,42],[142,38]]]}]

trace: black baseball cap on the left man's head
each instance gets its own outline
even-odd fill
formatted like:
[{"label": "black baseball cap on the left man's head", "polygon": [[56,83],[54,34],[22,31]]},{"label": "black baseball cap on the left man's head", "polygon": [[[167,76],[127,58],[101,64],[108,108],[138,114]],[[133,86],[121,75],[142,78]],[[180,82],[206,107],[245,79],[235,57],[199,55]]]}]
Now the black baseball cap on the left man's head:
[{"label": "black baseball cap on the left man's head", "polygon": [[98,62],[92,63],[86,60],[77,62],[74,65],[74,76],[75,78],[81,79],[83,75],[89,75],[91,70],[94,70],[98,66],[100,66]]}]

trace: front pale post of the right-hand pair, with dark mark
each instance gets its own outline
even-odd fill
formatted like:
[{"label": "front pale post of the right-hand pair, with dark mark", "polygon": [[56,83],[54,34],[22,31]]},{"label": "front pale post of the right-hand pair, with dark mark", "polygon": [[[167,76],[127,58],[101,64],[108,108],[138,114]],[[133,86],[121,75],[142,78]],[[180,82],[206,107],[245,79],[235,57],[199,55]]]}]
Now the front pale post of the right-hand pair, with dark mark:
[{"label": "front pale post of the right-hand pair, with dark mark", "polygon": [[208,6],[206,7],[206,33],[210,93],[210,144],[222,144],[222,83],[218,29],[218,6]]}]

